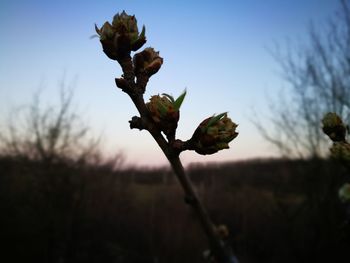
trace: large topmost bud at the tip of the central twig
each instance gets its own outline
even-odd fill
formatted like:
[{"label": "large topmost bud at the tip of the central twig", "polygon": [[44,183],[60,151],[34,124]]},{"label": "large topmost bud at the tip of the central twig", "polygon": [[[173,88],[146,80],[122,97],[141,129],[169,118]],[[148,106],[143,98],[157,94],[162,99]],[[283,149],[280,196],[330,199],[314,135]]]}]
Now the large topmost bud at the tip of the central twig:
[{"label": "large topmost bud at the tip of the central twig", "polygon": [[135,16],[129,16],[125,11],[116,14],[112,24],[105,22],[101,28],[95,25],[95,30],[100,37],[103,51],[113,60],[138,50],[146,43],[145,26],[139,34]]}]

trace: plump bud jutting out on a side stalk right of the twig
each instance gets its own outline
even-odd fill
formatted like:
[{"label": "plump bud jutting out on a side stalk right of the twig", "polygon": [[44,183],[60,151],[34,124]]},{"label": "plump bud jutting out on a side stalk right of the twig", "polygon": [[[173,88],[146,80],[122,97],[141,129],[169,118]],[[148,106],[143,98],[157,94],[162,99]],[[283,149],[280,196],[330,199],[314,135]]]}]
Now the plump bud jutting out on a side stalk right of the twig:
[{"label": "plump bud jutting out on a side stalk right of the twig", "polygon": [[237,137],[237,124],[227,117],[227,113],[205,119],[195,130],[190,143],[199,154],[213,154],[229,148],[229,142]]}]

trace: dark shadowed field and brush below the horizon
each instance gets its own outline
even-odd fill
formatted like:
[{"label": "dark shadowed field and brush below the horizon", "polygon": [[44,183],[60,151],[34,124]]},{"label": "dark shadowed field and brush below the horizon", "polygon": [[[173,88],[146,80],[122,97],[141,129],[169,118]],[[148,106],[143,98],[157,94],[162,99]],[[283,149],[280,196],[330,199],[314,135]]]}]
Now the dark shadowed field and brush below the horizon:
[{"label": "dark shadowed field and brush below the horizon", "polygon": [[[325,160],[192,165],[245,262],[348,262],[346,170]],[[170,169],[0,158],[1,262],[203,262],[207,242]]]}]

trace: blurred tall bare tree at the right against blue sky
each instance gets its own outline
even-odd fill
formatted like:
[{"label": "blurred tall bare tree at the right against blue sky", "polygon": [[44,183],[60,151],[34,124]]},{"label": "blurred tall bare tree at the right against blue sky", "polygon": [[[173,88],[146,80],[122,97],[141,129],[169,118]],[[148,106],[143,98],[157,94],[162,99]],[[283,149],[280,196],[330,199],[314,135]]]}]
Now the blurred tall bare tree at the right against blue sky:
[{"label": "blurred tall bare tree at the right against blue sky", "polygon": [[271,51],[287,90],[270,100],[271,126],[261,134],[288,157],[323,157],[329,143],[320,120],[329,111],[350,120],[350,1],[323,27],[309,27],[306,45]]}]

